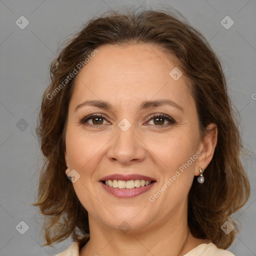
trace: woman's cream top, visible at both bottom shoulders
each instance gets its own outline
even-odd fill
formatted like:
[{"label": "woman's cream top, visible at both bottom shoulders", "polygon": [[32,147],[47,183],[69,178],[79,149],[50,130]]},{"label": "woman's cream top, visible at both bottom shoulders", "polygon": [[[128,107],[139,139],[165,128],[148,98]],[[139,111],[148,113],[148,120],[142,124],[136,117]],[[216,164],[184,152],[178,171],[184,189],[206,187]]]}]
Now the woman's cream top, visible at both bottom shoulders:
[{"label": "woman's cream top, visible at both bottom shoulders", "polygon": [[[187,252],[183,256],[234,256],[233,253],[227,250],[218,249],[215,244],[202,243]],[[57,254],[56,256],[79,256],[79,243],[74,242],[65,251]]]}]

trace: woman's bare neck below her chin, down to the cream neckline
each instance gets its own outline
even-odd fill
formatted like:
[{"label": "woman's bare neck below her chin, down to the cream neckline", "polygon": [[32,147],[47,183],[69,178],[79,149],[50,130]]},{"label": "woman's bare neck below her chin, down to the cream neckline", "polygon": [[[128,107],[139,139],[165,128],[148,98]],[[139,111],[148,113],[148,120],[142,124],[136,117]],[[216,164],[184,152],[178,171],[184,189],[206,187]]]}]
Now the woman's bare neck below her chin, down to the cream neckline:
[{"label": "woman's bare neck below her chin, down to the cream neckline", "polygon": [[210,242],[193,237],[184,216],[179,214],[154,225],[149,223],[143,230],[130,229],[126,233],[103,226],[92,216],[89,216],[89,225],[90,239],[82,247],[80,256],[181,256],[201,243]]}]

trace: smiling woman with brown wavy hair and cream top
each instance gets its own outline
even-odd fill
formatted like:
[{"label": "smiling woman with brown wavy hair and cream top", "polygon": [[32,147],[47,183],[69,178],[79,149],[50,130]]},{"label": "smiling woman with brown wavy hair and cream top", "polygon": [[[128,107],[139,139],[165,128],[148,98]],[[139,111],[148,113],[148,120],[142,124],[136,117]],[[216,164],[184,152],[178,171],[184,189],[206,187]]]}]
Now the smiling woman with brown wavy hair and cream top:
[{"label": "smiling woman with brown wavy hair and cream top", "polygon": [[[221,64],[174,14],[109,12],[52,62],[35,205],[64,255],[233,255],[247,201]],[[68,177],[68,178],[67,178]]]}]

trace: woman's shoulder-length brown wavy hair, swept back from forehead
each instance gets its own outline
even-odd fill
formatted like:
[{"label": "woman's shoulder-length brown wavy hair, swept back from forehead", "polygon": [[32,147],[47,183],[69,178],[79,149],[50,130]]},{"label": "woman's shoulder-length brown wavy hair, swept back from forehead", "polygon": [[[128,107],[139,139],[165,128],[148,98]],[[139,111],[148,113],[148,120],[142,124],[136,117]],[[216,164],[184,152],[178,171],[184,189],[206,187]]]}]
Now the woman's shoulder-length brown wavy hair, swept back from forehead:
[{"label": "woman's shoulder-length brown wavy hair, swept back from forehead", "polygon": [[[225,249],[239,231],[231,214],[247,201],[250,186],[239,159],[242,143],[220,61],[203,35],[180,13],[130,9],[107,11],[89,20],[50,65],[50,84],[42,96],[36,128],[45,162],[33,204],[44,216],[43,245],[70,235],[79,240],[89,233],[87,211],[65,175],[65,125],[76,77],[70,79],[70,73],[100,45],[131,43],[155,44],[174,55],[190,80],[201,136],[209,123],[217,125],[217,144],[204,172],[205,182],[199,185],[195,177],[188,194],[188,226],[193,236],[210,239]],[[229,234],[220,228],[226,220],[234,226]]]}]

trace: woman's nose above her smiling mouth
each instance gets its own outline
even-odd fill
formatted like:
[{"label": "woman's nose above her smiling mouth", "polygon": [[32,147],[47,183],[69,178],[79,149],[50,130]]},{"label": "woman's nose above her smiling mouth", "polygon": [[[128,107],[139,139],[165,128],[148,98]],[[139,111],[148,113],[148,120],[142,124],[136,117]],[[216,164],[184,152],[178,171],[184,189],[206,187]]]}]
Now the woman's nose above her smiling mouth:
[{"label": "woman's nose above her smiling mouth", "polygon": [[143,161],[146,155],[146,146],[131,125],[128,130],[123,131],[116,126],[116,135],[111,140],[107,151],[110,161],[118,161],[122,165],[130,165]]}]

